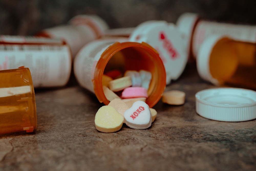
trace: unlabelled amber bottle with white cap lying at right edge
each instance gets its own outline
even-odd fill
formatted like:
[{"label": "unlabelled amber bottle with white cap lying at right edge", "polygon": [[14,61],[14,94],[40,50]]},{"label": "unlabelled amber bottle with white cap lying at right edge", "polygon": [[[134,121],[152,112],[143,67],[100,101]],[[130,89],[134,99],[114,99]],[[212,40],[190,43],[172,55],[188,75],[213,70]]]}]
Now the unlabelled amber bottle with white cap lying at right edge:
[{"label": "unlabelled amber bottle with white cap lying at right edge", "polygon": [[256,43],[212,35],[196,61],[199,75],[215,85],[256,90]]}]

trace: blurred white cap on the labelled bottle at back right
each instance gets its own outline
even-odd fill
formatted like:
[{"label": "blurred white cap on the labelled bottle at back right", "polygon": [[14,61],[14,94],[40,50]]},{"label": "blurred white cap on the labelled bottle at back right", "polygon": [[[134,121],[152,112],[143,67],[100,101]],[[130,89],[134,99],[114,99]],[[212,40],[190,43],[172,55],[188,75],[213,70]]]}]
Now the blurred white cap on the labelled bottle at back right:
[{"label": "blurred white cap on the labelled bottle at back right", "polygon": [[182,38],[185,41],[187,56],[189,56],[190,52],[190,42],[193,36],[193,29],[198,19],[199,16],[197,14],[184,13],[177,19],[176,22],[177,28],[179,29],[180,33],[182,33]]}]

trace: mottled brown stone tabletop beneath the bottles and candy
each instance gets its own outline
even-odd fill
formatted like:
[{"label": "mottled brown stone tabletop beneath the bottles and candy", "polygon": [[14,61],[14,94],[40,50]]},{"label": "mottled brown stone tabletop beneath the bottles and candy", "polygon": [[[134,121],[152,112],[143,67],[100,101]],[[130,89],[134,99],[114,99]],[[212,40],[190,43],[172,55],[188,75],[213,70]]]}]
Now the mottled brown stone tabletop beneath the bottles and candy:
[{"label": "mottled brown stone tabletop beneath the bottles and candy", "polygon": [[218,122],[196,113],[195,93],[212,87],[188,64],[166,87],[184,91],[184,105],[160,100],[150,128],[124,124],[115,133],[95,128],[103,104],[76,81],[36,90],[37,129],[0,135],[0,170],[256,170],[255,119]]}]

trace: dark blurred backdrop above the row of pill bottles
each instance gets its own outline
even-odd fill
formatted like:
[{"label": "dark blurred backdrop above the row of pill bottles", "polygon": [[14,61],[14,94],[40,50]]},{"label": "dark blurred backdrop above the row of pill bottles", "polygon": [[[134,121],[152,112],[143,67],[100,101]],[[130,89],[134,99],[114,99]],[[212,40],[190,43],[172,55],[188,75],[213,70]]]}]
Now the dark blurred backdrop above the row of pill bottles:
[{"label": "dark blurred backdrop above the row of pill bottles", "polygon": [[228,23],[256,24],[255,0],[0,0],[0,34],[34,35],[95,14],[110,28],[135,27],[148,20],[176,23],[185,12]]}]

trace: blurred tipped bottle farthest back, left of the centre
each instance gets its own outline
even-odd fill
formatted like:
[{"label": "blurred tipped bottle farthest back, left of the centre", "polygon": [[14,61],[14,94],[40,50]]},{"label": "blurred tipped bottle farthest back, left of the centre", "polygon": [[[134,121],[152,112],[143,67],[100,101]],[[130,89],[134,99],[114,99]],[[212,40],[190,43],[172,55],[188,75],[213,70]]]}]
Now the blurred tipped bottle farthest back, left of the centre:
[{"label": "blurred tipped bottle farthest back, left of the centre", "polygon": [[42,30],[37,36],[63,38],[70,46],[72,58],[86,43],[100,38],[108,29],[106,22],[96,15],[77,15],[66,25]]}]

